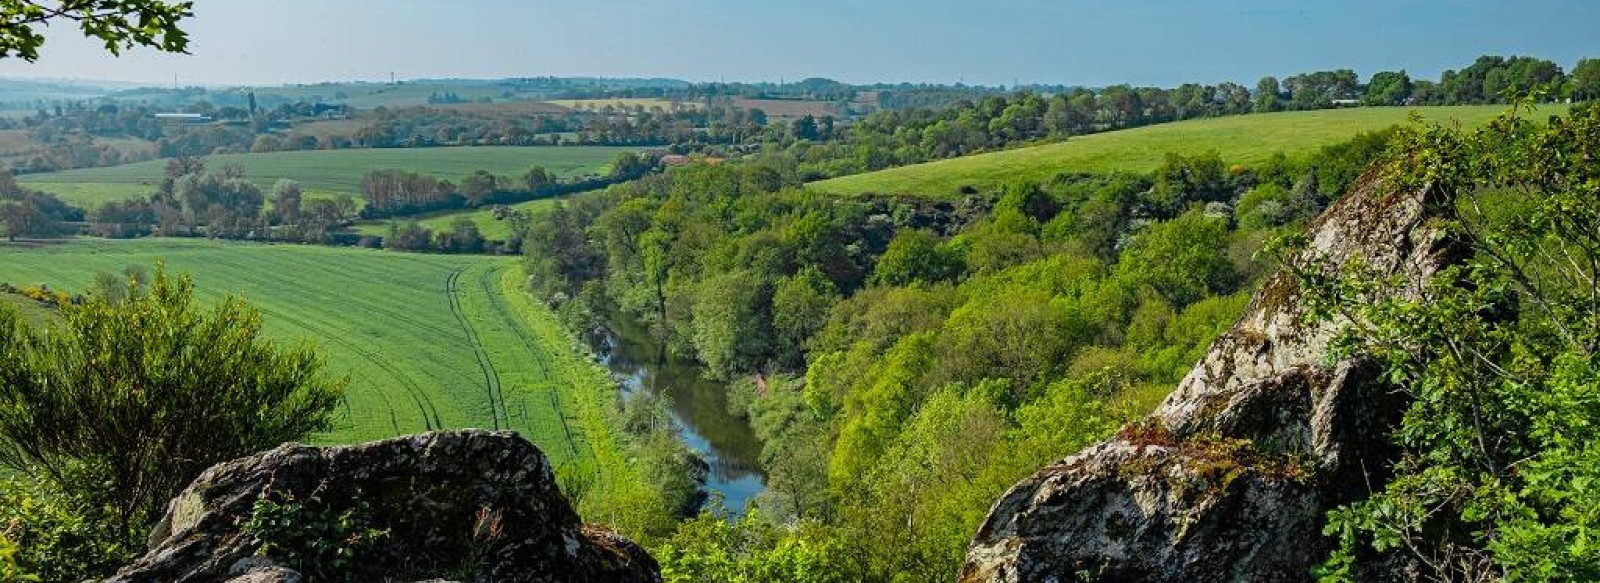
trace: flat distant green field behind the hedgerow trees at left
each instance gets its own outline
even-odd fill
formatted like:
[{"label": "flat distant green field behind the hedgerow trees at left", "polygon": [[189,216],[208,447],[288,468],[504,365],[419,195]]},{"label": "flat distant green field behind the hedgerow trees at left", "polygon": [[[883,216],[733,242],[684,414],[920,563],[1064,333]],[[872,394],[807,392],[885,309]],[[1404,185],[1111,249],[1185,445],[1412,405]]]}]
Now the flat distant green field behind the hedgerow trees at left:
[{"label": "flat distant green field behind the hedgerow trees at left", "polygon": [[[362,176],[373,170],[411,170],[451,181],[475,170],[517,178],[534,165],[542,165],[560,176],[605,173],[606,167],[629,147],[573,146],[573,147],[418,147],[418,149],[344,149],[301,151],[266,154],[222,154],[206,157],[208,168],[229,163],[245,167],[245,176],[270,187],[280,178],[301,181],[317,192],[357,194]],[[67,170],[45,175],[21,176],[21,183],[64,200],[94,207],[107,200],[147,195],[166,173],[166,160],[150,160],[106,168]]]}]

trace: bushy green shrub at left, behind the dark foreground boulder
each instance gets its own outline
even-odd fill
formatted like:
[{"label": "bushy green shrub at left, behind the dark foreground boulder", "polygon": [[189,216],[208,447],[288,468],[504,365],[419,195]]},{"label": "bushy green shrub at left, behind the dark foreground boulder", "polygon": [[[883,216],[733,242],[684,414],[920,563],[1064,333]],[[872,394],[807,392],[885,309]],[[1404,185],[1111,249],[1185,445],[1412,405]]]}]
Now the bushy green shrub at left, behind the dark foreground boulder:
[{"label": "bushy green shrub at left, behind the dark foreground boulder", "polygon": [[48,332],[0,309],[0,463],[101,501],[133,540],[202,469],[330,429],[344,381],[237,298],[202,311],[187,277],[128,292]]}]

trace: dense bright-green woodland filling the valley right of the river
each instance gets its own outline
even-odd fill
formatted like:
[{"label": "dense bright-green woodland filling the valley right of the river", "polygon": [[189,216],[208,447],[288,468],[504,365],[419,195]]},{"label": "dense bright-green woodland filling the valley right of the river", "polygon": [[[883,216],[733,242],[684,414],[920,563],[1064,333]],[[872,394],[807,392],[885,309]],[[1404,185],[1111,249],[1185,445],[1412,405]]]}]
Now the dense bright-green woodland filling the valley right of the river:
[{"label": "dense bright-green woodland filling the valley right of the river", "polygon": [[765,445],[766,519],[685,525],[669,572],[810,561],[790,556],[803,532],[837,548],[829,573],[942,580],[1000,492],[1152,407],[1243,311],[1261,242],[1384,141],[1256,168],[1171,155],[960,203],[818,195],[781,159],[699,163],[531,219],[526,263],[570,324],[637,319],[733,380]]}]

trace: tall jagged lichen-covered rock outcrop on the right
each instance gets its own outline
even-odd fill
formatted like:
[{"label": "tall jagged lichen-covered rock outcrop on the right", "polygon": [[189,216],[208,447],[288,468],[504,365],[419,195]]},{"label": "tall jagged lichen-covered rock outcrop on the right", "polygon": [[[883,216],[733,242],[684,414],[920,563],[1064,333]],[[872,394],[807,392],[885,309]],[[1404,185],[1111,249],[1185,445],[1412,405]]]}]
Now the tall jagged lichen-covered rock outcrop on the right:
[{"label": "tall jagged lichen-covered rock outcrop on the right", "polygon": [[[1368,175],[1291,263],[1360,263],[1414,295],[1456,259],[1429,224],[1435,197]],[[1349,322],[1307,322],[1298,285],[1274,275],[1147,420],[1011,487],[962,580],[1309,580],[1326,509],[1382,482],[1405,400],[1376,365],[1328,362]]]}]

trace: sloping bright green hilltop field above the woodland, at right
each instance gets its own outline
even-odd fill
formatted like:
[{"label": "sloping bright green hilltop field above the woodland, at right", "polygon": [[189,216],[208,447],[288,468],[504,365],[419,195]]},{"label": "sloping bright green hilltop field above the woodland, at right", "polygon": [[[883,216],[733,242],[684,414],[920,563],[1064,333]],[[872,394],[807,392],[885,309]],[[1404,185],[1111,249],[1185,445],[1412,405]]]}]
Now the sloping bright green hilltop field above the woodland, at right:
[{"label": "sloping bright green hilltop field above the woodland, at right", "polygon": [[[1411,112],[1430,122],[1482,125],[1506,112],[1506,106],[1357,107],[1189,120],[842,176],[810,186],[832,194],[954,195],[963,186],[984,189],[1011,179],[1045,181],[1064,171],[1144,173],[1155,170],[1168,152],[1218,151],[1229,163],[1253,165],[1275,152],[1302,154],[1362,131],[1405,123]],[[1544,106],[1536,115],[1557,112],[1565,112],[1565,107]]]}]

